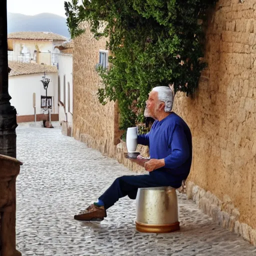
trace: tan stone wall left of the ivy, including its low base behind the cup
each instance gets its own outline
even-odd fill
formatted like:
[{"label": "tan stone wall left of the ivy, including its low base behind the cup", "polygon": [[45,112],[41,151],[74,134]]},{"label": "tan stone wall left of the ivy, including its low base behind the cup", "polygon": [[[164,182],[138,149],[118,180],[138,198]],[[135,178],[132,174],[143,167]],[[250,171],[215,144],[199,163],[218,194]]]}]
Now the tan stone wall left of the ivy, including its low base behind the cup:
[{"label": "tan stone wall left of the ivy, including its low base behind the cup", "polygon": [[[142,167],[123,157],[126,146],[120,141],[117,103],[102,105],[98,101],[97,90],[102,85],[95,65],[99,62],[99,49],[105,49],[106,38],[96,40],[87,23],[82,27],[85,31],[74,39],[73,51],[73,136],[130,169],[142,171]],[[139,150],[147,154],[146,147]]]}]

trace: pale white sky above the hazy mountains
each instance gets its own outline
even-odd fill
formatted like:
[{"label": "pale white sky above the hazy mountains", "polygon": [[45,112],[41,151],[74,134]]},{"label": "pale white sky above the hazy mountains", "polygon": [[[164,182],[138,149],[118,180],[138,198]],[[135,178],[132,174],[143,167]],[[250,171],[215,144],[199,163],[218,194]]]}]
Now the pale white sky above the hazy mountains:
[{"label": "pale white sky above the hazy mountains", "polygon": [[64,0],[7,0],[7,11],[26,15],[50,12],[65,17]]}]

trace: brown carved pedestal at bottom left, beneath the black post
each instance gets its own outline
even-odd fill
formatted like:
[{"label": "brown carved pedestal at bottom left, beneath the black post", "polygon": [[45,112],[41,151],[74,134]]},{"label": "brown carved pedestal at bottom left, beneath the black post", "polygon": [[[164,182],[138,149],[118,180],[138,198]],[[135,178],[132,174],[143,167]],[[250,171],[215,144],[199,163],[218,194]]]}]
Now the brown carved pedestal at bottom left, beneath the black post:
[{"label": "brown carved pedestal at bottom left, beneath the black post", "polygon": [[0,255],[20,256],[16,250],[16,177],[22,163],[0,154]]}]

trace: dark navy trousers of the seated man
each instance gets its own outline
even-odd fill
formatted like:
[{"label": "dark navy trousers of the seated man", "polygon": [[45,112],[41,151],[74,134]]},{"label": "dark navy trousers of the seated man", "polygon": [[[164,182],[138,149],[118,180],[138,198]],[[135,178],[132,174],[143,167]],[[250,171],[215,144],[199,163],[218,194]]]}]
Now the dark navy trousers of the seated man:
[{"label": "dark navy trousers of the seated man", "polygon": [[98,198],[104,202],[105,209],[111,207],[119,198],[128,195],[129,198],[135,199],[137,190],[140,187],[168,186],[167,180],[156,180],[150,175],[130,175],[121,176],[106,189]]}]

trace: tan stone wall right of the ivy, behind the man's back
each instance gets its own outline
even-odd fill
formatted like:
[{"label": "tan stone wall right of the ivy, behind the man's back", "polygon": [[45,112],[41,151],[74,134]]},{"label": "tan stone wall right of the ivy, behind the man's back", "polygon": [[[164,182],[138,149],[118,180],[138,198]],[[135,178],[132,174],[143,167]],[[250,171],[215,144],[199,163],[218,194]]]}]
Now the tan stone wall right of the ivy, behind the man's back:
[{"label": "tan stone wall right of the ivy, behind the man's back", "polygon": [[[255,33],[255,0],[219,0],[208,21],[205,48],[208,68],[202,72],[199,89],[193,98],[177,93],[174,99],[174,110],[186,120],[193,136],[193,161],[188,179],[198,189],[214,194],[219,210],[254,229]],[[202,192],[200,198],[203,197]],[[222,213],[218,222],[221,218]],[[252,231],[251,237],[241,228],[237,232],[255,243]]]}]

